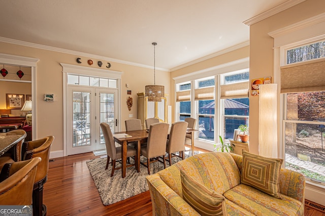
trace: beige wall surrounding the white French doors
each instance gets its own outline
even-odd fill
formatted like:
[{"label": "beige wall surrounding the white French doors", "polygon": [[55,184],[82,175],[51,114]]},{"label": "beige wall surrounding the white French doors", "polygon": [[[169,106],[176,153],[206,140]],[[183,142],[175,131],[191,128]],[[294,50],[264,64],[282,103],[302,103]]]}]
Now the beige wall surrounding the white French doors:
[{"label": "beige wall surrounding the white French doors", "polygon": [[[103,62],[102,68],[105,69],[107,61],[4,42],[0,42],[0,53],[39,59],[37,63],[36,95],[33,95],[33,100],[37,100],[37,139],[53,135],[55,140],[51,151],[63,150],[63,85],[62,66],[60,63],[100,68],[97,62],[101,60]],[[82,59],[82,64],[76,62],[78,57]],[[88,59],[91,59],[94,64],[89,66],[87,64]],[[110,63],[112,65],[110,70],[123,72],[121,77],[120,111],[122,117],[120,119],[120,125],[121,129],[124,130],[124,120],[128,118],[129,114],[133,114],[134,118],[137,118],[137,93],[143,92],[146,84],[153,84],[153,69],[115,62]],[[125,87],[126,83],[129,85],[128,88]],[[165,85],[165,93],[170,94],[170,72],[156,70],[156,84]],[[126,105],[126,99],[130,96],[126,94],[127,90],[132,91],[133,107],[131,111],[128,111]],[[54,102],[45,102],[43,100],[44,94],[54,94]],[[170,105],[170,99],[168,99],[167,104]]]}]

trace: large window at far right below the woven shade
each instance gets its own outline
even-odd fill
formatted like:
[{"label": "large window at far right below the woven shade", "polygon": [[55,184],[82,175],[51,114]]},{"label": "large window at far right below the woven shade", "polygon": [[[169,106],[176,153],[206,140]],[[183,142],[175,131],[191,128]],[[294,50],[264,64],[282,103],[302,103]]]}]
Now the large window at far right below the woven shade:
[{"label": "large window at far right below the woven shade", "polygon": [[286,94],[285,168],[325,184],[325,92]]}]

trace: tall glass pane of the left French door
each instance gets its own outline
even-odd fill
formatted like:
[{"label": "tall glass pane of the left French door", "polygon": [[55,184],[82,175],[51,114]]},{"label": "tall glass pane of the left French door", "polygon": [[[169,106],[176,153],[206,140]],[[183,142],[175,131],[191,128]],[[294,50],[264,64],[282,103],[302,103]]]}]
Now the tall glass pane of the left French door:
[{"label": "tall glass pane of the left French door", "polygon": [[73,147],[90,145],[90,93],[73,92]]}]

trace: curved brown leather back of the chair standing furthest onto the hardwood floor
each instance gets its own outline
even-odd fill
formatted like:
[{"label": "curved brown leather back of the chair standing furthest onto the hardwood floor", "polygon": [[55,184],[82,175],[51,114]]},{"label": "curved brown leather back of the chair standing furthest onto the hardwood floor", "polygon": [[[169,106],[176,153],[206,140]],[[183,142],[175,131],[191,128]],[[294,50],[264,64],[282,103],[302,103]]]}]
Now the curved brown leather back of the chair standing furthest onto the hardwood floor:
[{"label": "curved brown leather back of the chair standing furthest onto the hardwood floor", "polygon": [[23,143],[23,160],[28,160],[35,157],[42,158],[42,161],[37,166],[35,183],[47,177],[47,173],[49,171],[50,150],[53,140],[54,136],[48,136],[39,140]]}]

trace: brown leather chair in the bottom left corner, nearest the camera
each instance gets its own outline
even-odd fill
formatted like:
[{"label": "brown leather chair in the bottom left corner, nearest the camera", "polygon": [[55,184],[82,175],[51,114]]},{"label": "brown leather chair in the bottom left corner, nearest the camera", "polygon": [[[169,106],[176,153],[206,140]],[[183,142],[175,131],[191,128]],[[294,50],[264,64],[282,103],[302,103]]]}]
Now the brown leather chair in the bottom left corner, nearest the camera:
[{"label": "brown leather chair in the bottom left corner, nearest the camera", "polygon": [[4,165],[0,174],[1,205],[31,205],[37,165],[41,160],[36,157]]}]

